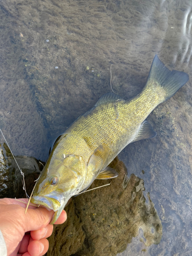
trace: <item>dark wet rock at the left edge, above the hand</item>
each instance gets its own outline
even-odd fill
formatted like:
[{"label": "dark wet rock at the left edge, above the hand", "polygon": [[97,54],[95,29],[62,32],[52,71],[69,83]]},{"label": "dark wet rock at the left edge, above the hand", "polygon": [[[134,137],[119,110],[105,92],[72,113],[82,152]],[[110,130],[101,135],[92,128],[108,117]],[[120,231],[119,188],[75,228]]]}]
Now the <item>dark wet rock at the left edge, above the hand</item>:
[{"label": "dark wet rock at the left edge, above the hand", "polygon": [[[0,146],[0,198],[26,198],[22,183],[23,176],[10,150],[5,143]],[[35,184],[34,180],[38,178],[42,166],[33,157],[17,156],[15,159],[25,174],[26,189],[30,194]]]}]

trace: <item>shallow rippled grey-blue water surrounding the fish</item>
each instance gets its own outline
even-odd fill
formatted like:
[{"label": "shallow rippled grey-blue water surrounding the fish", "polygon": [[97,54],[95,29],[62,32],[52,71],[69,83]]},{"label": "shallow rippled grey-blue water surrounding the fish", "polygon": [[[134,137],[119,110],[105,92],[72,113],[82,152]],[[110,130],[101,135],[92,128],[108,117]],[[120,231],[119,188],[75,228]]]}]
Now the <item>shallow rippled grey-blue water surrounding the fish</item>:
[{"label": "shallow rippled grey-blue water surrounding the fish", "polygon": [[15,155],[45,161],[57,136],[111,91],[111,64],[113,90],[125,99],[144,87],[155,54],[189,74],[147,118],[156,138],[119,155],[128,175],[144,180],[163,231],[158,245],[146,246],[139,229],[118,256],[192,253],[191,7],[191,1],[0,1],[0,126]]}]

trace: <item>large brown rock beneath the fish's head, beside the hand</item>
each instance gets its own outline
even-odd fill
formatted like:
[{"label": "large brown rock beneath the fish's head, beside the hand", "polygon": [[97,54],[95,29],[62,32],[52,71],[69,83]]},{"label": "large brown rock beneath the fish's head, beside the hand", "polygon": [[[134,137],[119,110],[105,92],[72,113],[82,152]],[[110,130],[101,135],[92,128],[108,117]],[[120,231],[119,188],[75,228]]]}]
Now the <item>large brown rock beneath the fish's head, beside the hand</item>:
[{"label": "large brown rock beneath the fish's head, beside the hand", "polygon": [[[162,224],[149,195],[149,203],[145,202],[143,180],[132,174],[124,189],[125,165],[115,158],[110,166],[119,176],[110,186],[72,200],[66,207],[68,220],[54,227],[47,255],[116,255],[126,249],[139,228],[143,230],[145,246],[160,242]],[[107,182],[96,180],[92,187]]]}]

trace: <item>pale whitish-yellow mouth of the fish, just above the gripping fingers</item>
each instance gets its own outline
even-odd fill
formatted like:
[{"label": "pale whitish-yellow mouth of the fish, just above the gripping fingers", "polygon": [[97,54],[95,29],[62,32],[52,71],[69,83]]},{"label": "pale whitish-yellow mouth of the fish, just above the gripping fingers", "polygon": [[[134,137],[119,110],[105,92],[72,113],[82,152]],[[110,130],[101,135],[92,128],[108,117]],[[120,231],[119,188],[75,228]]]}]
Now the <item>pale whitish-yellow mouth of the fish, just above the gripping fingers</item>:
[{"label": "pale whitish-yellow mouth of the fish, just above the gripping fingers", "polygon": [[31,203],[43,205],[48,209],[57,211],[61,204],[63,204],[65,198],[63,195],[59,195],[57,191],[52,191],[50,194],[45,196],[33,196],[31,198]]}]

